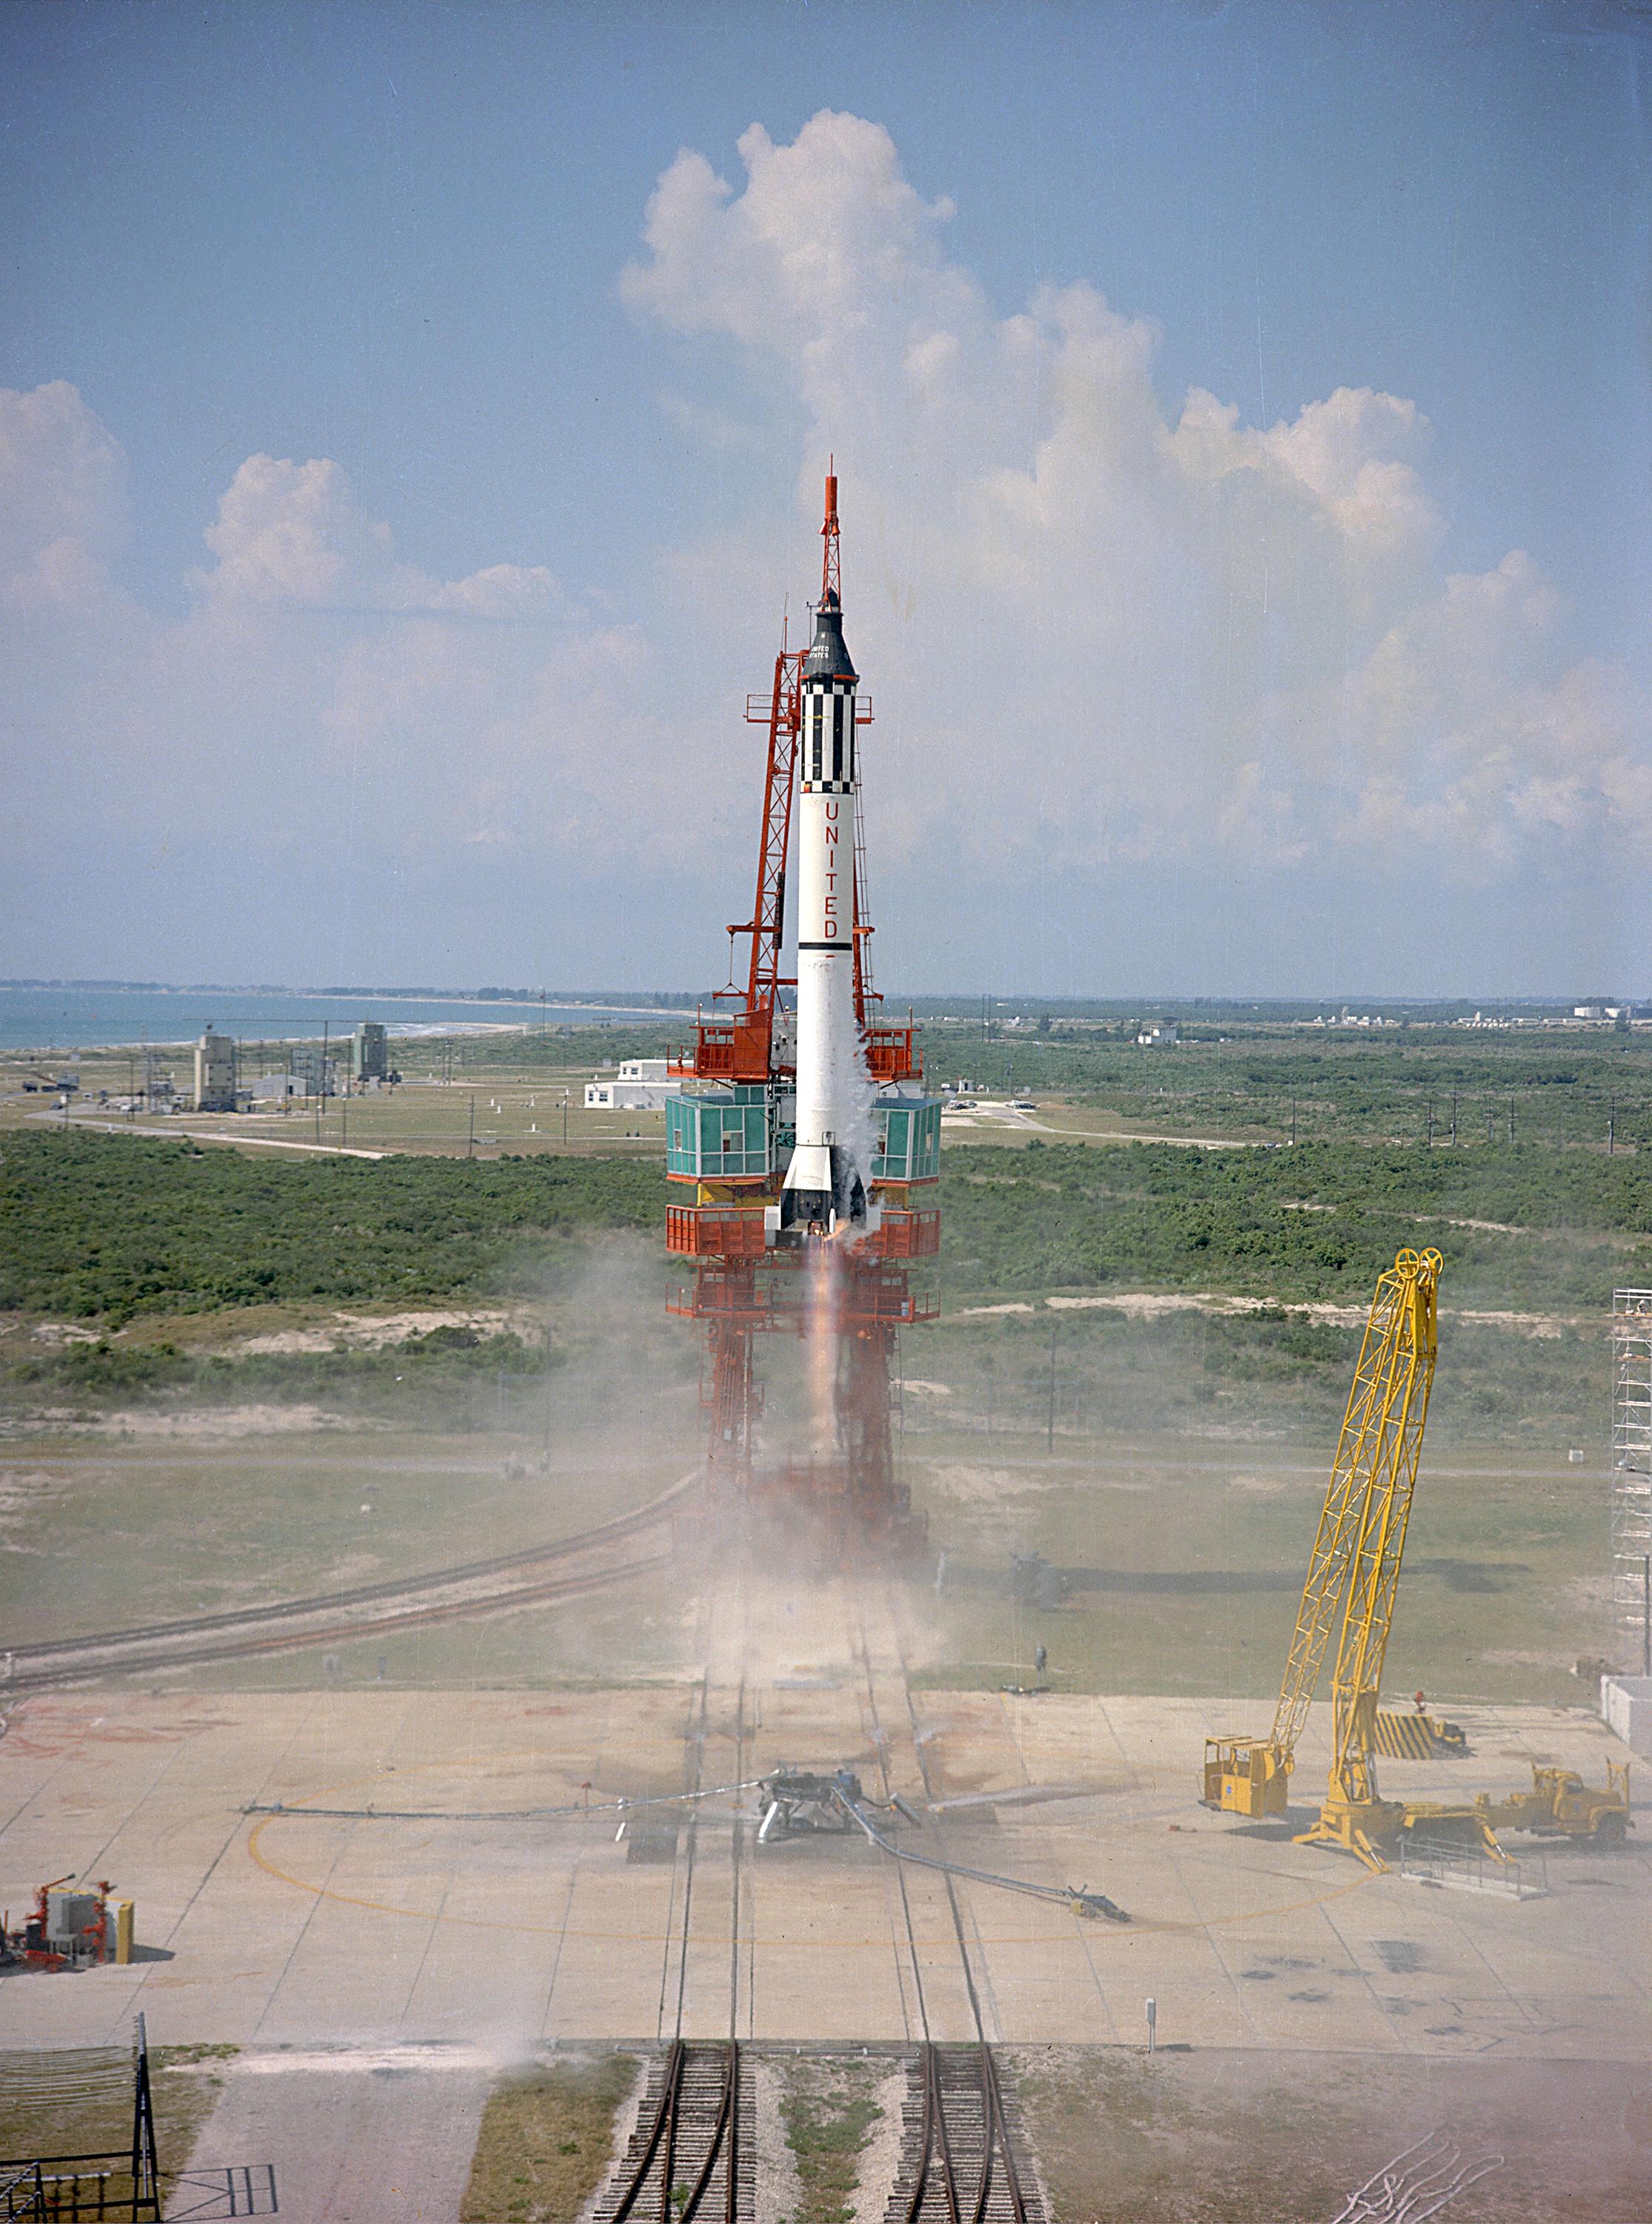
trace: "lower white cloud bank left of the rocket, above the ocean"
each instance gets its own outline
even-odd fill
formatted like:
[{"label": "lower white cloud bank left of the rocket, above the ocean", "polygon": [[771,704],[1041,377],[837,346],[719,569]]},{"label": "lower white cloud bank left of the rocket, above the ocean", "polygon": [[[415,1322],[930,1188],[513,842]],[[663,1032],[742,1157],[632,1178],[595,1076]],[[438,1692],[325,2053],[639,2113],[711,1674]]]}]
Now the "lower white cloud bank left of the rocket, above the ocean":
[{"label": "lower white cloud bank left of the rocket, above the ocean", "polygon": [[47,852],[102,823],[162,856],[342,838],[376,863],[469,843],[591,867],[665,832],[649,643],[545,567],[431,578],[336,460],[249,456],[167,616],[109,585],[122,487],[73,387],[0,394],[7,741]]}]

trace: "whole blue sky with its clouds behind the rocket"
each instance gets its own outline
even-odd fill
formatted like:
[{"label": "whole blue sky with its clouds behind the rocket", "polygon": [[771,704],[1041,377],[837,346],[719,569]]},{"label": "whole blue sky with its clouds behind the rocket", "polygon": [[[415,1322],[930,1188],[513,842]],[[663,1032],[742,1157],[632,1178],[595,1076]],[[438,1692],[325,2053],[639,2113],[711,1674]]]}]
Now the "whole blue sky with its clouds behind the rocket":
[{"label": "whole blue sky with its clouds behind the rocket", "polygon": [[11,970],[711,976],[829,443],[892,983],[1645,990],[1645,31],[9,9]]}]

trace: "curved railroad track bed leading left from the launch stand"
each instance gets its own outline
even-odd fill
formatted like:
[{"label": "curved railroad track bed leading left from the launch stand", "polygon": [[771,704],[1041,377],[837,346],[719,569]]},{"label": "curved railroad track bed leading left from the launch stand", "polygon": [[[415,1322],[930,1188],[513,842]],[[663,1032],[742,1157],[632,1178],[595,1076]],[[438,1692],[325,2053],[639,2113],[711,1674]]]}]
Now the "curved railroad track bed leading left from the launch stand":
[{"label": "curved railroad track bed leading left from the launch stand", "polygon": [[[229,1615],[193,1615],[138,1630],[16,1646],[0,1661],[0,1692],[22,1697],[100,1675],[142,1675],[207,1661],[296,1652],[358,1637],[574,1599],[669,1563],[669,1521],[698,1477],[596,1528],[525,1552],[438,1568],[389,1583],[360,1583],[316,1599],[285,1599]],[[665,1532],[663,1539],[656,1532]]]}]

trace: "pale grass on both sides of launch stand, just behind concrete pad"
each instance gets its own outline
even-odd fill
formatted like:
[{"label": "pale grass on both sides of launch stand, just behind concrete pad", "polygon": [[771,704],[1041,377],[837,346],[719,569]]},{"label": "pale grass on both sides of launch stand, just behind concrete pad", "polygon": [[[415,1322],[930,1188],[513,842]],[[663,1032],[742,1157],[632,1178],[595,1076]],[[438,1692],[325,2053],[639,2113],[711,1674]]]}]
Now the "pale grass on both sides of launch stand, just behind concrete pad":
[{"label": "pale grass on both sides of launch stand, just behind concrete pad", "polygon": [[[1278,1686],[1330,1439],[1181,1434],[905,1437],[905,1468],[945,1568],[914,1590],[920,1679],[1230,1692]],[[0,1615],[16,1644],[451,1566],[658,1495],[671,1441],[620,1452],[600,1430],[547,1468],[531,1439],[249,1437],[142,1446],[36,1441],[0,1461]],[[1394,1630],[1396,1688],[1450,1704],[1588,1704],[1572,1677],[1601,1641],[1601,1468],[1565,1454],[1434,1448],[1425,1457]],[[1012,1581],[1047,1563],[1041,1599]],[[133,1588],[138,1572],[140,1590]],[[785,1586],[780,1586],[785,1588]],[[665,1572],[556,1608],[209,1666],[196,1688],[674,1677],[694,1661],[694,1586]],[[780,1610],[785,1604],[780,1601]]]}]

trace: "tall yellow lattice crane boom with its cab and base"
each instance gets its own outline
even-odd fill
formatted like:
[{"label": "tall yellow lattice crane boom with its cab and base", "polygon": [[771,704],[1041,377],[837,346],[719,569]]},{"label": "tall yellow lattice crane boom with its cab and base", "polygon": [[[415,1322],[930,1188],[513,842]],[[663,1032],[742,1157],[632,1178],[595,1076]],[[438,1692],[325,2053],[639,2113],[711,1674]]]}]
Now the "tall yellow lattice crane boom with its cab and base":
[{"label": "tall yellow lattice crane boom with its cab and base", "polygon": [[1434,1386],[1439,1274],[1439,1252],[1403,1250],[1376,1281],[1272,1730],[1267,1737],[1205,1739],[1205,1806],[1285,1815],[1296,1739],[1341,1608],[1332,1779],[1307,1839],[1347,1846],[1376,1866],[1374,1839],[1392,1835],[1405,1817],[1376,1795],[1372,1748]]}]

